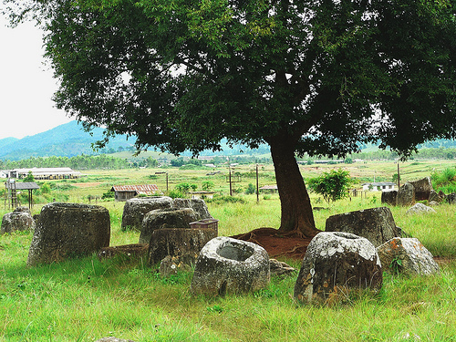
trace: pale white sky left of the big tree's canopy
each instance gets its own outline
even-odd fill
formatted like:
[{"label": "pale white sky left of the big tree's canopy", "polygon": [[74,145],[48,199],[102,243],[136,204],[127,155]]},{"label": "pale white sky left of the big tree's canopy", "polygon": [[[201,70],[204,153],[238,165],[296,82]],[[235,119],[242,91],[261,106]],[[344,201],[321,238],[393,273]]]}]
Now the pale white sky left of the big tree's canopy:
[{"label": "pale white sky left of the big tree's canopy", "polygon": [[51,99],[57,80],[44,64],[42,31],[33,23],[7,24],[0,14],[0,139],[22,139],[71,121]]}]

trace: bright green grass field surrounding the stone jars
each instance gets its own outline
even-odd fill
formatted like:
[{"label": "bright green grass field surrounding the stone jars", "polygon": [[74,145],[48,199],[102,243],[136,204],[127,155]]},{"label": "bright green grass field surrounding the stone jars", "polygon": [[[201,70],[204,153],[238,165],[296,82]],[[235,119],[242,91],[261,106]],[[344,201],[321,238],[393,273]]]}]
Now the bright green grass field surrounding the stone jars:
[{"label": "bright green grass field surrounding the stone jars", "polygon": [[[401,163],[401,182],[454,167],[450,162]],[[313,177],[335,165],[301,166]],[[342,165],[362,180],[390,180],[397,164],[367,162]],[[123,203],[102,201],[115,184],[156,183],[166,188],[163,170],[88,171],[75,181],[55,182],[50,197],[68,202],[106,206],[111,218],[111,245],[134,244],[139,233],[120,230]],[[215,192],[228,192],[227,171],[167,169],[169,187],[182,181],[202,188],[212,181]],[[255,182],[254,166],[236,168],[245,189]],[[274,183],[272,166],[260,166],[260,186]],[[244,233],[261,226],[278,227],[280,203],[276,194],[238,194],[244,203],[209,202],[212,216],[220,220],[219,234]],[[99,199],[98,199],[99,197]],[[44,198],[44,197],[42,197]],[[327,205],[312,195],[317,228],[324,230],[332,214],[380,206],[380,194],[368,193]],[[33,211],[39,212],[42,204]],[[295,303],[297,275],[273,278],[268,288],[250,295],[223,298],[192,296],[192,272],[161,278],[142,264],[98,261],[93,255],[60,264],[26,267],[32,233],[0,236],[0,341],[94,341],[115,336],[145,341],[456,341],[456,207],[448,204],[437,213],[408,215],[407,208],[391,207],[396,223],[420,239],[432,254],[444,257],[440,275],[429,277],[384,276],[377,295],[362,293],[341,298],[335,306]],[[0,214],[7,209],[0,210]],[[300,261],[285,260],[299,268]]]}]

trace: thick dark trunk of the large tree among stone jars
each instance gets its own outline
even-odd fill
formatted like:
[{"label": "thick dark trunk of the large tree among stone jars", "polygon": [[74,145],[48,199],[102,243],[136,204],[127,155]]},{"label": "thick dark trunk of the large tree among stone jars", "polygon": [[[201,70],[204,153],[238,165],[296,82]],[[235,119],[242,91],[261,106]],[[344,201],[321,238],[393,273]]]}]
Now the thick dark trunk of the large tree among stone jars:
[{"label": "thick dark trunk of the large tree among stone jars", "polygon": [[295,160],[294,144],[286,138],[276,138],[268,142],[281,203],[280,231],[298,232],[306,237],[314,237],[319,231],[316,229],[303,176]]}]

